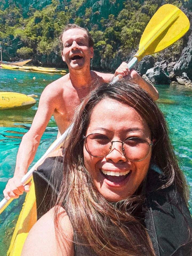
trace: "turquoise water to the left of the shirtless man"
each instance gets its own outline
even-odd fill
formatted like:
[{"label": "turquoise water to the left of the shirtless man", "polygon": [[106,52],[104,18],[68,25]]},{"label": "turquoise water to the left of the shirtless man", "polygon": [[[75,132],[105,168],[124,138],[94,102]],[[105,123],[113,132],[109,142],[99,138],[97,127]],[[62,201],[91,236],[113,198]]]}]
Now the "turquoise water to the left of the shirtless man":
[{"label": "turquoise water to the left of the shirtless man", "polygon": [[[34,80],[33,77],[36,79]],[[35,94],[37,103],[27,110],[0,111],[0,200],[9,178],[14,174],[16,156],[23,134],[31,127],[37,111],[38,102],[43,89],[52,81],[60,78],[58,74],[45,74],[31,71],[0,69],[0,91],[13,91],[24,94]],[[16,78],[16,80],[14,80]],[[45,79],[45,81],[43,81]],[[46,152],[56,139],[57,126],[51,118],[41,143],[30,167]],[[17,222],[25,195],[14,200],[0,215],[0,255],[6,255],[14,226]]]}]

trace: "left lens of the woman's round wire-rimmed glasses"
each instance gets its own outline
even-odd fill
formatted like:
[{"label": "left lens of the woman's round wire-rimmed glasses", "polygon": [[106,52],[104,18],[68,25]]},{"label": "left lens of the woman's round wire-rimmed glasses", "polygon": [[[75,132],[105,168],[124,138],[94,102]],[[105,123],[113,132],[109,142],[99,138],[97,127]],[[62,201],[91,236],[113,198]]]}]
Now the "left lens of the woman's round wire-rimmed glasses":
[{"label": "left lens of the woman's round wire-rimmed glasses", "polygon": [[111,141],[100,133],[89,134],[85,140],[85,148],[90,155],[102,157],[109,153]]}]

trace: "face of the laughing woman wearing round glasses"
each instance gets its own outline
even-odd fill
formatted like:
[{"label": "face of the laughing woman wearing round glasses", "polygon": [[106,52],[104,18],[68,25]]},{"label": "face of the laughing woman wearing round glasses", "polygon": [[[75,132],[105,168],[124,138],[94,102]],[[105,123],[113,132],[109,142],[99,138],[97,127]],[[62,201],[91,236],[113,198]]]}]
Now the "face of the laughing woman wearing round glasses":
[{"label": "face of the laughing woman wearing round glasses", "polygon": [[[102,138],[93,136],[98,133]],[[151,159],[151,132],[145,119],[132,107],[102,99],[91,113],[86,135],[84,163],[99,193],[110,202],[134,194]]]}]

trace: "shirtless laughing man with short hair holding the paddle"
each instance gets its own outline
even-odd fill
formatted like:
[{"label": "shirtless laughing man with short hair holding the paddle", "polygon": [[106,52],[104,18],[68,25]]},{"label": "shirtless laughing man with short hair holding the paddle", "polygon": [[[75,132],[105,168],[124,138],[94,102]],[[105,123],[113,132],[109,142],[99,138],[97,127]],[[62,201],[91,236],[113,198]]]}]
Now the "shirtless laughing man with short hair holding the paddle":
[{"label": "shirtless laughing man with short hair holding the paddle", "polygon": [[94,81],[110,82],[116,75],[130,75],[151,97],[158,99],[158,91],[145,81],[135,70],[129,70],[125,62],[115,71],[106,74],[90,70],[93,58],[93,40],[89,32],[77,25],[69,24],[60,37],[63,50],[62,59],[67,63],[69,73],[49,84],[41,94],[37,113],[30,130],[23,136],[19,146],[15,173],[9,179],[3,191],[7,200],[18,198],[23,191],[28,192],[30,183],[23,186],[21,178],[27,173],[28,167],[35,157],[41,137],[53,115],[58,126],[58,135],[63,134],[70,125],[75,108],[93,89]]}]

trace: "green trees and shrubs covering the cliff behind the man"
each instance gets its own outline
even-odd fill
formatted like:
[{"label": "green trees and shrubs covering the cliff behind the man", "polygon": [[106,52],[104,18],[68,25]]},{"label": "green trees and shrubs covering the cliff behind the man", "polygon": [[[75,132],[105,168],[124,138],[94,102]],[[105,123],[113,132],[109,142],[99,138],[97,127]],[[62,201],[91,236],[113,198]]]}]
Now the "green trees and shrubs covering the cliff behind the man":
[{"label": "green trees and shrubs covering the cliff behind the man", "polygon": [[[12,59],[33,57],[41,62],[43,59],[43,64],[47,64],[61,51],[58,37],[62,28],[74,22],[87,27],[93,36],[95,58],[92,68],[105,70],[114,68],[117,56],[126,60],[133,50],[137,50],[143,30],[159,6],[164,2],[178,7],[182,5],[180,0],[52,0],[42,1],[41,6],[39,1],[32,1],[31,6],[26,2],[9,0],[7,5],[3,0],[0,3],[0,41],[4,60],[9,60],[8,56]],[[172,46],[171,52],[166,51],[164,57],[175,55],[177,58],[182,47],[180,40]],[[53,65],[57,64],[53,61]]]}]

